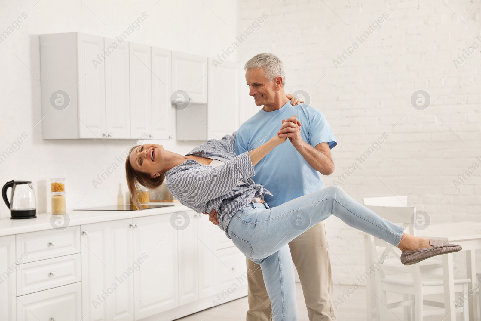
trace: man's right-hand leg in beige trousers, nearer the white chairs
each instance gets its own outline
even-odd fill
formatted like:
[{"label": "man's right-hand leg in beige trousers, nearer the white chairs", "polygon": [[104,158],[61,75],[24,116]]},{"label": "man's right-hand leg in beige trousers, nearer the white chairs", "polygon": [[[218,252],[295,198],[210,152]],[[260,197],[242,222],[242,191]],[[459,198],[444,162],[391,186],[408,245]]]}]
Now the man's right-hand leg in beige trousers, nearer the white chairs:
[{"label": "man's right-hand leg in beige trousers, nearer the white chairs", "polygon": [[309,320],[336,321],[332,305],[334,284],[324,221],[293,239],[289,248],[301,280]]}]

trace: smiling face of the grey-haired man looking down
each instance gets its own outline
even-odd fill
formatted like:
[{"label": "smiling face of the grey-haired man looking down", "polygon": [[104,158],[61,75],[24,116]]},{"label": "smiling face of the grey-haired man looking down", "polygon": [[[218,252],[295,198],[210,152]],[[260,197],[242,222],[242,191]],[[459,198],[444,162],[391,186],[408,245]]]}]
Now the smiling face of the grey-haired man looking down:
[{"label": "smiling face of the grey-haired man looking down", "polygon": [[275,102],[276,81],[269,81],[264,76],[264,68],[248,69],[245,72],[245,80],[249,86],[249,95],[253,96],[257,106]]}]

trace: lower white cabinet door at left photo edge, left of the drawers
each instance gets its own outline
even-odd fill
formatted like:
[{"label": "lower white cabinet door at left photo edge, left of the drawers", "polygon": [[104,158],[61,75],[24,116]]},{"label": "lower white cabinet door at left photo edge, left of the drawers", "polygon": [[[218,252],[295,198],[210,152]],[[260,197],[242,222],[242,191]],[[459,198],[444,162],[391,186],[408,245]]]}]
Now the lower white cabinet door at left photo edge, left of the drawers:
[{"label": "lower white cabinet door at left photo edge, left of the drawers", "polygon": [[15,235],[0,237],[0,320],[16,319],[15,264]]}]

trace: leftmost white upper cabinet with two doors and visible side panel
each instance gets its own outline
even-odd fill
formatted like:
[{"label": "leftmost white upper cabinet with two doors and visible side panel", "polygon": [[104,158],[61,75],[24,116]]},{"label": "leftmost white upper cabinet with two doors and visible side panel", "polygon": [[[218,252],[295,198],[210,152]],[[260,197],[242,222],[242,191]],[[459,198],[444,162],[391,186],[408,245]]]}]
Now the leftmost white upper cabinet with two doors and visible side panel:
[{"label": "leftmost white upper cabinet with two doors and visible side panel", "polygon": [[128,43],[40,35],[43,139],[130,138]]}]

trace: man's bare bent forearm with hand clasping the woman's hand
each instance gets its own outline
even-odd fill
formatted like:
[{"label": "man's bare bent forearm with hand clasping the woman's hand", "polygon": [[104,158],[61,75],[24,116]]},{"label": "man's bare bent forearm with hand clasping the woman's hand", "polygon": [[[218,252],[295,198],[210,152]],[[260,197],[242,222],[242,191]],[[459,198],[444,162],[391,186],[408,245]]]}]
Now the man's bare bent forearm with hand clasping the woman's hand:
[{"label": "man's bare bent forearm with hand clasping the woman's hand", "polygon": [[278,131],[281,138],[289,138],[292,146],[304,157],[307,163],[322,175],[330,175],[334,172],[329,143],[321,142],[316,148],[302,139],[301,130],[296,116],[282,120],[282,127]]}]

